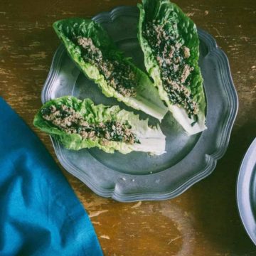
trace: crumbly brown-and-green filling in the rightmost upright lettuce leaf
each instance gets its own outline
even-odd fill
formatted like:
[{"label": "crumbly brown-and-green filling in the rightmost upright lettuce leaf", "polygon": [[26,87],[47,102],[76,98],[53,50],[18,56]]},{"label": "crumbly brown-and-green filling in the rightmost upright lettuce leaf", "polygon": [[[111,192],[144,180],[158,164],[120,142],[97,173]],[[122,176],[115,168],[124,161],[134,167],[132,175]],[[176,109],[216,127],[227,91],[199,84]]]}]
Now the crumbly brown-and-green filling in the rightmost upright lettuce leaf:
[{"label": "crumbly brown-and-green filling in the rightmost upright lettuce leaf", "polygon": [[174,34],[169,33],[165,26],[159,25],[155,20],[144,23],[143,26],[142,34],[156,56],[169,100],[178,107],[182,106],[189,118],[197,118],[198,104],[188,88],[193,71],[193,67],[186,63],[186,59],[190,57],[189,48],[177,43]]}]

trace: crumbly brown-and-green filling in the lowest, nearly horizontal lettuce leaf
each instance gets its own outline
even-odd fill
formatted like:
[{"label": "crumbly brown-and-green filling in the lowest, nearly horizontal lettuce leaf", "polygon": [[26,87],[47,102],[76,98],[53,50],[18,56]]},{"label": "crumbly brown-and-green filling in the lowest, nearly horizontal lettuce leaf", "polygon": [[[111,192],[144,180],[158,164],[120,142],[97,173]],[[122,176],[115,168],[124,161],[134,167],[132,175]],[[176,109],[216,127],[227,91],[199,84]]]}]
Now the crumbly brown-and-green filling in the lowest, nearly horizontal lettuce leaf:
[{"label": "crumbly brown-and-green filling in the lowest, nearly horizontal lettuce leaf", "polygon": [[140,143],[132,133],[129,122],[121,124],[118,121],[107,120],[106,122],[90,123],[72,107],[51,105],[41,110],[43,119],[53,124],[58,129],[68,134],[80,134],[82,139],[101,139],[101,144],[108,142],[125,142],[128,144]]}]

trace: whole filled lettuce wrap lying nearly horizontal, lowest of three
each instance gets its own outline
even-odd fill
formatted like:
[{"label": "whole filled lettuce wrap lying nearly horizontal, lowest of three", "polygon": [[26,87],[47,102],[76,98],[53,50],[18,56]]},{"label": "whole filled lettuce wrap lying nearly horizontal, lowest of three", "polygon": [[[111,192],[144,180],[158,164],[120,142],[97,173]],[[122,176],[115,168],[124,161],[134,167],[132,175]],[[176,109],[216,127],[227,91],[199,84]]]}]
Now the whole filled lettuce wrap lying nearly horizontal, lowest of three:
[{"label": "whole filled lettuce wrap lying nearly horizontal, lowest of three", "polygon": [[94,105],[90,99],[65,96],[50,100],[38,111],[33,124],[67,149],[97,146],[107,153],[165,152],[165,136],[159,125],[149,127],[148,119],[140,120],[119,106]]}]

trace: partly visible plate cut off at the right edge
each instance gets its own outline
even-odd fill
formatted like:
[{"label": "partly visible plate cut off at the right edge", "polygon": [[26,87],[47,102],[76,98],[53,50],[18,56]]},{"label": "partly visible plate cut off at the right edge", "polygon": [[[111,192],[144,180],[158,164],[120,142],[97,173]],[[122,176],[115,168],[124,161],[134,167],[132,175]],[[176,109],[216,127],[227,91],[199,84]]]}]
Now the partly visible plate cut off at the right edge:
[{"label": "partly visible plate cut off at the right edge", "polygon": [[238,175],[237,201],[242,224],[256,245],[256,138],[242,159]]}]

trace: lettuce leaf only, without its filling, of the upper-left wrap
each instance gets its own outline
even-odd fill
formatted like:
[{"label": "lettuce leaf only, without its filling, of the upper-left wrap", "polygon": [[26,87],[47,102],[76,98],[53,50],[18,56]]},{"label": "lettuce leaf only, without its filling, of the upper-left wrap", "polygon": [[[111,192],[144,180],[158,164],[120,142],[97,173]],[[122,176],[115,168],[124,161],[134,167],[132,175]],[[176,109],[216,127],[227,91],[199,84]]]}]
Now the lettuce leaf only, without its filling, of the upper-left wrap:
[{"label": "lettuce leaf only, without its filling, of the upper-left wrap", "polygon": [[[142,110],[146,114],[161,120],[168,109],[164,106],[159,98],[158,92],[148,76],[139,70],[130,60],[124,58],[122,52],[117,50],[116,46],[107,35],[107,32],[99,23],[82,18],[68,18],[53,23],[53,28],[65,48],[68,50],[70,57],[75,61],[80,70],[93,80],[107,97],[115,97],[118,101],[124,102],[127,106],[133,107],[135,110]],[[129,65],[136,75],[138,81],[137,96],[124,97],[109,85],[105,77],[100,74],[96,65],[92,65],[82,58],[81,46],[74,38],[91,38],[92,42],[102,52],[107,52],[115,57],[119,62]]]}]

